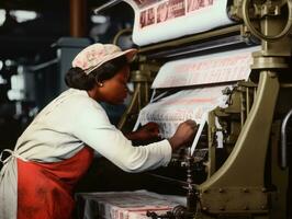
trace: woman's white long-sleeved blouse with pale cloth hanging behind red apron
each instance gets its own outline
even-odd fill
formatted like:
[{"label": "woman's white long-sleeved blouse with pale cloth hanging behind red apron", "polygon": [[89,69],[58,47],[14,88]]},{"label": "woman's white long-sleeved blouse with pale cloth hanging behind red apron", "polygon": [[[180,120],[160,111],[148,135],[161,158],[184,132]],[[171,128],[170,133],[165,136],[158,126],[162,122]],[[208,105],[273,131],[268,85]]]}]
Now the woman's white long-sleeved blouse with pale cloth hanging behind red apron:
[{"label": "woman's white long-sleeved blouse with pale cloth hanging behind red apron", "polygon": [[71,158],[85,145],[126,172],[167,165],[171,159],[168,140],[133,147],[132,141],[109,120],[102,106],[86,91],[69,89],[52,101],[18,139],[0,173],[0,218],[16,218],[16,158],[57,162]]}]

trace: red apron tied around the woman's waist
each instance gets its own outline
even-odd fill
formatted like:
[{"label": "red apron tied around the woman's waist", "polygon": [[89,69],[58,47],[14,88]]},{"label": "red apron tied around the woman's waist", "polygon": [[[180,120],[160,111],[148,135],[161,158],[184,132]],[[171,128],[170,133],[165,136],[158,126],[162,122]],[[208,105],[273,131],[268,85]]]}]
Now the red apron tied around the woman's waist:
[{"label": "red apron tied around the woman's waist", "polygon": [[93,150],[52,163],[18,159],[18,219],[67,219],[75,207],[72,189],[87,172]]}]

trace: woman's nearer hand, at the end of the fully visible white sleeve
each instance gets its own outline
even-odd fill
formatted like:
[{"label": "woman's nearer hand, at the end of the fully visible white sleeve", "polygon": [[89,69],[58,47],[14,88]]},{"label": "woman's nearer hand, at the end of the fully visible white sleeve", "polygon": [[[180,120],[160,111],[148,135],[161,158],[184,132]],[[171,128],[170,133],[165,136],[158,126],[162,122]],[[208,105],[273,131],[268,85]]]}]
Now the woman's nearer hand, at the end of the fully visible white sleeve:
[{"label": "woman's nearer hand, at the end of the fully visible white sleeve", "polygon": [[194,120],[186,120],[184,123],[181,123],[175,135],[168,139],[172,151],[178,150],[193,140],[196,131],[198,126]]}]

